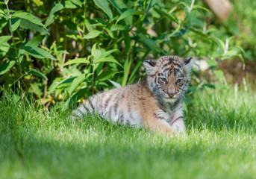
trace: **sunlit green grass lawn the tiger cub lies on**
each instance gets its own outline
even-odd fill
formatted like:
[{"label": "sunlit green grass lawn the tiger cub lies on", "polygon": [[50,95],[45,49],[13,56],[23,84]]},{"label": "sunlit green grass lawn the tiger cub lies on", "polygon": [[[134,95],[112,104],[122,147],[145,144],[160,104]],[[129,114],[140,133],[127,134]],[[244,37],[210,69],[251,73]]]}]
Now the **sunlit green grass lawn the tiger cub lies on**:
[{"label": "sunlit green grass lawn the tiger cub lies on", "polygon": [[0,178],[255,178],[256,96],[196,93],[187,135],[166,137],[88,116],[0,101]]}]

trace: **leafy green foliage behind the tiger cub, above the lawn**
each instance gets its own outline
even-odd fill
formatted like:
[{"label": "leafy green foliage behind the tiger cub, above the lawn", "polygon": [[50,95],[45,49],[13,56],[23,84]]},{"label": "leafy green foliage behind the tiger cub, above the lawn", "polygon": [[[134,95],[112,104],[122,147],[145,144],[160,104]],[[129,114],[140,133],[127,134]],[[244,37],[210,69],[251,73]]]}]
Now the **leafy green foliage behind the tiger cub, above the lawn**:
[{"label": "leafy green foliage behind the tiger cub, above the lawn", "polygon": [[1,87],[66,108],[140,81],[143,60],[170,54],[196,60],[190,94],[247,88],[255,83],[256,1],[231,2],[222,22],[199,0],[1,1]]}]

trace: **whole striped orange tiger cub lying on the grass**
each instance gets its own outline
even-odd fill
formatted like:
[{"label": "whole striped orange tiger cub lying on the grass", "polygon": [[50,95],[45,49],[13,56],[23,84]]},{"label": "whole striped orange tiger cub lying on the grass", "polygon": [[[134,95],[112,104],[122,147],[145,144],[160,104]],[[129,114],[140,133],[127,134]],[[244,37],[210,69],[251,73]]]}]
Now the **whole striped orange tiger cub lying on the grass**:
[{"label": "whole striped orange tiger cub lying on the grass", "polygon": [[163,134],[186,130],[183,117],[184,92],[190,83],[193,60],[163,56],[145,60],[146,80],[91,96],[73,115],[98,113],[107,120],[145,127]]}]

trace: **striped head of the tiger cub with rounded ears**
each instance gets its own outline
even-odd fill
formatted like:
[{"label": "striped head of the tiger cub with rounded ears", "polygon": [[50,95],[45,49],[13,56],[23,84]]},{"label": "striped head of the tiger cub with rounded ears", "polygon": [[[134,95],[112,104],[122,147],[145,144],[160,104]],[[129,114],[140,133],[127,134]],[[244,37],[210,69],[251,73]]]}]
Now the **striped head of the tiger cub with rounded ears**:
[{"label": "striped head of the tiger cub with rounded ears", "polygon": [[145,60],[143,65],[149,89],[167,102],[182,98],[190,83],[192,63],[191,57],[182,60],[177,56],[163,56],[156,61]]}]

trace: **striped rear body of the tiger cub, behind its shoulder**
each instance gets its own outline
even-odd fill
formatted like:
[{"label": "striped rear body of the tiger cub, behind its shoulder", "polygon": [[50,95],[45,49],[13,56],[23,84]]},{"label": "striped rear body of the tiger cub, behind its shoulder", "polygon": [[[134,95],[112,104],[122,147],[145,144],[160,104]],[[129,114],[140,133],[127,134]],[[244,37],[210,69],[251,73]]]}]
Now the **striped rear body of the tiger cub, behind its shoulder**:
[{"label": "striped rear body of the tiger cub, behind its shoulder", "polygon": [[141,110],[146,108],[143,100],[150,92],[145,84],[133,84],[101,92],[91,96],[84,104],[75,110],[75,116],[81,117],[87,113],[97,113],[107,120],[113,120],[124,125],[140,128],[143,125]]}]

